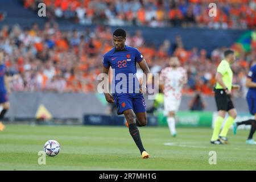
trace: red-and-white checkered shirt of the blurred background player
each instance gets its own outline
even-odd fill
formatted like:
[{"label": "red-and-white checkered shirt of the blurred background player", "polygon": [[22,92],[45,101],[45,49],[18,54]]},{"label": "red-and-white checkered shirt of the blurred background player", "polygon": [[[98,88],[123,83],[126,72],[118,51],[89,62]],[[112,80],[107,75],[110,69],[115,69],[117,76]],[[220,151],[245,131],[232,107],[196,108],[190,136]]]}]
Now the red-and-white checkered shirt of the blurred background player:
[{"label": "red-and-white checkered shirt of the blurred background player", "polygon": [[164,95],[173,96],[176,99],[181,98],[185,80],[187,80],[187,71],[182,67],[177,67],[176,69],[172,67],[164,68],[159,75],[159,81],[164,85]]}]

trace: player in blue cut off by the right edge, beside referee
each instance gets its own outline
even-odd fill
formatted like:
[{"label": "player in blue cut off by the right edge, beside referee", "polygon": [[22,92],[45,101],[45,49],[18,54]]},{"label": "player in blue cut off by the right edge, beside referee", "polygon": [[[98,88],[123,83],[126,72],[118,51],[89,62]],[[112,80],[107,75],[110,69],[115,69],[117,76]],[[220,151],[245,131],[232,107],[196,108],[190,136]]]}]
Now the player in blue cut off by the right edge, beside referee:
[{"label": "player in blue cut off by the right edge, beside referee", "polygon": [[234,134],[236,135],[237,126],[251,125],[251,130],[249,133],[249,137],[246,140],[246,143],[256,144],[256,142],[253,139],[253,134],[255,133],[255,130],[256,130],[256,60],[253,62],[251,69],[247,75],[246,86],[249,88],[246,95],[246,100],[249,106],[250,113],[254,115],[254,119],[249,119],[247,121],[242,121],[237,123],[235,122],[233,130],[234,130]]}]

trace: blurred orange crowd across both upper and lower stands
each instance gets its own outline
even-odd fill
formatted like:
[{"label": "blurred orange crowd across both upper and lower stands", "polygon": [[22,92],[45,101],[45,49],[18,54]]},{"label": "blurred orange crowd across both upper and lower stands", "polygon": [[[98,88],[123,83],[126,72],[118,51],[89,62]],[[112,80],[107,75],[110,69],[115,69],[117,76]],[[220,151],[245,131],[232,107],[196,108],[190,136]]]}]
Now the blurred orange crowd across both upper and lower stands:
[{"label": "blurred orange crowd across both upper and lower stands", "polygon": [[[0,50],[5,52],[5,64],[13,91],[97,92],[96,80],[102,69],[102,55],[113,47],[111,26],[135,25],[137,31],[133,34],[127,32],[126,45],[142,52],[152,73],[159,73],[168,65],[170,56],[177,56],[188,72],[184,94],[200,92],[210,96],[216,82],[216,67],[226,47],[220,46],[210,52],[198,47],[187,48],[187,40],[180,35],[176,35],[172,42],[166,39],[156,46],[154,41],[147,42],[137,27],[250,30],[240,41],[243,45],[236,44],[237,40],[234,40],[232,46],[237,54],[237,61],[232,65],[234,83],[241,85],[234,96],[246,94],[245,78],[251,61],[256,59],[256,0],[217,1],[217,16],[212,18],[208,15],[208,0],[20,2],[22,9],[30,11],[37,11],[39,2],[46,3],[48,22],[43,27],[39,27],[38,23],[25,27],[19,24],[1,27]],[[63,30],[58,24],[63,18],[96,26]],[[141,72],[138,68],[138,73]]]}]

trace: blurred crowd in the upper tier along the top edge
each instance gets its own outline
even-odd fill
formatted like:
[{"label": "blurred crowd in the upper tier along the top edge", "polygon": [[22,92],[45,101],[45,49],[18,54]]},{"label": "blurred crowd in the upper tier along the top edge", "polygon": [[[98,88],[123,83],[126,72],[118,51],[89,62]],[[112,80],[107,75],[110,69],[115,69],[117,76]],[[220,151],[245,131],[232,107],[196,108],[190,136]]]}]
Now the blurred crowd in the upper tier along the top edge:
[{"label": "blurred crowd in the upper tier along the top edge", "polygon": [[[44,2],[49,19],[67,18],[82,24],[210,28],[256,26],[255,0],[23,0],[23,2],[24,7],[35,11],[38,11],[38,3]],[[217,14],[210,17],[209,3],[212,2],[217,5]]]}]

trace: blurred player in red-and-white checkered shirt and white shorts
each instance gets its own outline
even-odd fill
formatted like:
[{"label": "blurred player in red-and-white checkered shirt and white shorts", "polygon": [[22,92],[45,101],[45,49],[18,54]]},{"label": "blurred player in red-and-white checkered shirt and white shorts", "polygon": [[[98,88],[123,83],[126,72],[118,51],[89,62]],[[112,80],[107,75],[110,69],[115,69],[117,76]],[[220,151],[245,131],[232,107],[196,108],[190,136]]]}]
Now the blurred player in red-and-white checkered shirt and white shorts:
[{"label": "blurred player in red-and-white checkered shirt and white shorts", "polygon": [[179,109],[182,88],[187,83],[187,72],[180,67],[177,57],[171,57],[170,67],[160,72],[159,86],[164,93],[164,112],[167,115],[167,122],[173,137],[176,137],[175,113]]}]

